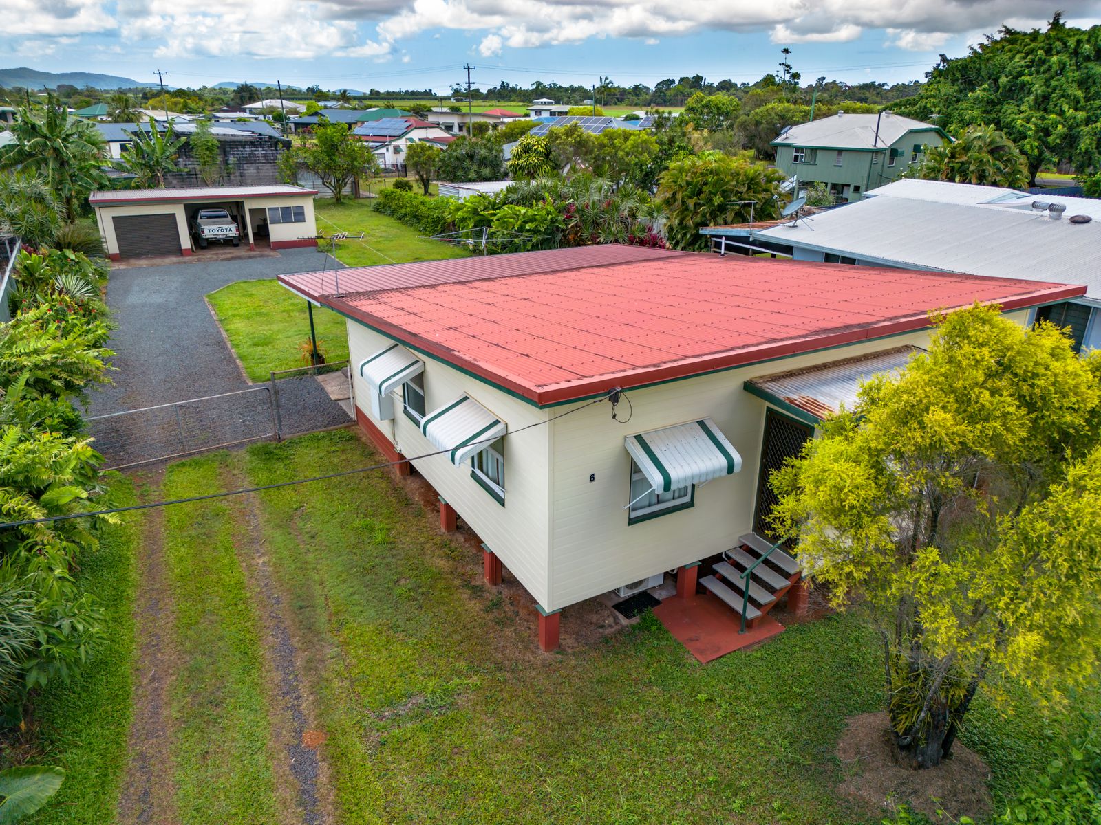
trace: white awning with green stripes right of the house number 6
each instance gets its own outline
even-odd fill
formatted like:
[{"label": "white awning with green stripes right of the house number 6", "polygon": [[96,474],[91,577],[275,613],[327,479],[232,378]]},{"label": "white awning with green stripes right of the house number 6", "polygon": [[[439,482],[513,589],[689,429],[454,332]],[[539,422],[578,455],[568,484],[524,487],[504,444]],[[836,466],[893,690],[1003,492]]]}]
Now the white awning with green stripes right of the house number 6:
[{"label": "white awning with green stripes right of the house number 6", "polygon": [[659,493],[742,469],[742,457],[710,418],[628,436],[624,441],[639,470]]}]

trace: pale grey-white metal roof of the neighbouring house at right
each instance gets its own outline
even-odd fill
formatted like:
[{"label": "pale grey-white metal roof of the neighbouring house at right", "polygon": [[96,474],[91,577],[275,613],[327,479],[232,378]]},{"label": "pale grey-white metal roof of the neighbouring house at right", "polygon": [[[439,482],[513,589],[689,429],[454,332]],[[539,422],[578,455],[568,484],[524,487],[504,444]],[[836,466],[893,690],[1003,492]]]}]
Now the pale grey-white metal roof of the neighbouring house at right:
[{"label": "pale grey-white metal roof of the neighbouring house at right", "polygon": [[[1033,200],[1068,204],[1062,220]],[[1077,212],[1097,216],[1071,223]],[[754,233],[754,238],[869,260],[969,275],[1083,284],[1101,299],[1101,201],[1027,198],[1021,207],[874,197]]]}]

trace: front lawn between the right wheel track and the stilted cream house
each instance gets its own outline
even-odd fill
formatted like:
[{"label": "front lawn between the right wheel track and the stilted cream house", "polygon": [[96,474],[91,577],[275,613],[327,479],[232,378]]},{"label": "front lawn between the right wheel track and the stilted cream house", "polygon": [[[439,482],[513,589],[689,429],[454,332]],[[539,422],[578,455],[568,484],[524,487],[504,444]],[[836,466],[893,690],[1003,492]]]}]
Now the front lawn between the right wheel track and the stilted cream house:
[{"label": "front lawn between the right wheel track and the stilted cream house", "polygon": [[[248,468],[266,484],[372,458],[318,433],[254,446]],[[470,585],[471,560],[454,561],[468,551],[386,475],[266,492],[262,508],[296,620],[334,651],[315,675],[345,822],[860,821],[832,791],[844,718],[881,702],[857,619],[707,667],[654,619],[543,657],[534,618]]]}]

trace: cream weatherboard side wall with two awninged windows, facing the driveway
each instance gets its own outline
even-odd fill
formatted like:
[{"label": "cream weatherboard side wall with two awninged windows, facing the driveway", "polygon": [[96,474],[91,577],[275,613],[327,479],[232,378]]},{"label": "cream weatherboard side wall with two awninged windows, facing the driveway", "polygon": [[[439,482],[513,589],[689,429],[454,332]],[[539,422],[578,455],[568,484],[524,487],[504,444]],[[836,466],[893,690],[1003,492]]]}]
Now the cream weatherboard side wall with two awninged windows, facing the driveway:
[{"label": "cream weatherboard side wall with two awninged windows, facing the driveway", "polygon": [[[372,389],[357,373],[363,359],[393,341],[356,321],[348,321],[348,351],[353,373],[356,404],[361,414],[389,436],[406,457],[435,452],[436,448],[402,411],[401,389],[394,392],[394,418],[379,421],[371,415]],[[486,546],[501,559],[532,597],[547,607],[547,537],[549,535],[550,473],[548,466],[550,428],[545,424],[552,413],[539,409],[473,378],[458,370],[417,353],[424,361],[425,409],[432,411],[467,393],[509,425],[504,439],[504,506],[497,503],[470,477],[470,465],[456,466],[446,455],[414,461],[428,483],[478,534]],[[549,609],[549,608],[548,608]]]}]

